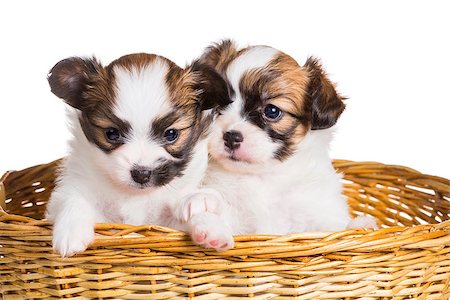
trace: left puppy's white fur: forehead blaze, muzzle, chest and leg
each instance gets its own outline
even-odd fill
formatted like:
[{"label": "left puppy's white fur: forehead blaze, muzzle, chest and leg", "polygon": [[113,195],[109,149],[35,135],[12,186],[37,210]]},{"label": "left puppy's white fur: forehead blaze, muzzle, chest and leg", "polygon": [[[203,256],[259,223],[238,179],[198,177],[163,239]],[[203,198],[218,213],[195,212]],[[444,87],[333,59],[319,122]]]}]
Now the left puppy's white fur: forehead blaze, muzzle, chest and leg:
[{"label": "left puppy's white fur: forehead blaze, muzzle, chest and leg", "polygon": [[183,176],[163,187],[138,189],[132,185],[133,165],[153,168],[161,158],[175,159],[149,139],[151,121],[170,108],[163,79],[166,67],[154,64],[141,72],[115,69],[118,99],[115,113],[132,127],[126,143],[109,154],[90,143],[78,122],[80,112],[69,109],[73,139],[47,218],[54,223],[53,248],[62,256],[84,251],[94,240],[99,222],[146,223],[185,229],[169,211],[177,201],[195,192],[207,167],[207,142],[197,143]]}]

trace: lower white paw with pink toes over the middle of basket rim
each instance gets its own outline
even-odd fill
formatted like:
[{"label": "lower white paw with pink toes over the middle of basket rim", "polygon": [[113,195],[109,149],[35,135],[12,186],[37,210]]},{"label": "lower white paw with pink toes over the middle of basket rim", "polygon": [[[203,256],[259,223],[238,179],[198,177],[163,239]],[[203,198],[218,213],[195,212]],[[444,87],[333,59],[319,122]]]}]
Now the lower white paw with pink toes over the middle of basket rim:
[{"label": "lower white paw with pink toes over the middle of basket rim", "polygon": [[225,251],[234,247],[230,228],[215,214],[194,215],[189,221],[189,232],[194,243],[205,248]]}]

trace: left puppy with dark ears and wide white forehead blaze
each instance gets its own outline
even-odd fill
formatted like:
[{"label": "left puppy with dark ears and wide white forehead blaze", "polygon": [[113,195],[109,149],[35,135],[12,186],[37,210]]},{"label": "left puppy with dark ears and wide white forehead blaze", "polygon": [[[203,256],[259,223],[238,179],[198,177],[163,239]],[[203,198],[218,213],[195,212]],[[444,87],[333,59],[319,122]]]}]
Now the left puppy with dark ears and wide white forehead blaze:
[{"label": "left puppy with dark ears and wide white forehead blaze", "polygon": [[198,63],[182,69],[141,53],[107,66],[64,59],[48,81],[71,106],[73,134],[46,212],[54,251],[84,251],[97,222],[183,229],[168,212],[203,178],[205,133],[213,111],[229,102],[223,79]]}]

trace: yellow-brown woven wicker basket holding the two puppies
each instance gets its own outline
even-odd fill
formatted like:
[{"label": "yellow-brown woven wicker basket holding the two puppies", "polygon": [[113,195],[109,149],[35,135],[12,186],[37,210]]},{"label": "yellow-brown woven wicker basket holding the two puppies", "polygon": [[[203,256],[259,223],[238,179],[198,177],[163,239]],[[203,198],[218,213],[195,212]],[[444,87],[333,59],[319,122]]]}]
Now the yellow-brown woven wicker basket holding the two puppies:
[{"label": "yellow-brown woven wicker basket holding the two puppies", "polygon": [[58,161],[0,184],[4,299],[448,299],[450,182],[400,166],[337,160],[354,214],[382,229],[235,237],[217,253],[185,233],[98,224],[84,253],[52,253],[42,216]]}]

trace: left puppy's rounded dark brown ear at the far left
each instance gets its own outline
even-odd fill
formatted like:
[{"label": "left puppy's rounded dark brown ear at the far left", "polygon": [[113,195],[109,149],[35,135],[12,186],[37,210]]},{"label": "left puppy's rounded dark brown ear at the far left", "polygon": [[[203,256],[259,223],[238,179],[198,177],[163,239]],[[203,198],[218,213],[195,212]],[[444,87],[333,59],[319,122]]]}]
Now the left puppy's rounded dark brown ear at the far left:
[{"label": "left puppy's rounded dark brown ear at the far left", "polygon": [[47,80],[53,94],[70,106],[83,109],[82,94],[99,68],[101,65],[95,57],[70,57],[58,62],[50,70]]}]

